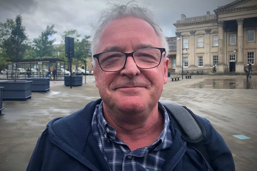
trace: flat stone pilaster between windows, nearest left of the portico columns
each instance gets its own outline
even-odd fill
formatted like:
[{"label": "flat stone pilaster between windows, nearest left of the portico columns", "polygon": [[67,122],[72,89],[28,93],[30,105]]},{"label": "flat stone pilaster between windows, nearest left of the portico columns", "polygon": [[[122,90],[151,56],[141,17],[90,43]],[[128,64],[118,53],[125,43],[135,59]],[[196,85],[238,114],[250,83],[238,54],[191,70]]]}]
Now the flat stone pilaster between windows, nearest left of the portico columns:
[{"label": "flat stone pilaster between windows, nearest left of the portico columns", "polygon": [[204,35],[204,48],[205,48],[205,55],[204,55],[204,64],[203,66],[210,66],[210,61],[212,60],[212,57],[210,56],[210,30],[211,29],[205,29],[205,35]]}]

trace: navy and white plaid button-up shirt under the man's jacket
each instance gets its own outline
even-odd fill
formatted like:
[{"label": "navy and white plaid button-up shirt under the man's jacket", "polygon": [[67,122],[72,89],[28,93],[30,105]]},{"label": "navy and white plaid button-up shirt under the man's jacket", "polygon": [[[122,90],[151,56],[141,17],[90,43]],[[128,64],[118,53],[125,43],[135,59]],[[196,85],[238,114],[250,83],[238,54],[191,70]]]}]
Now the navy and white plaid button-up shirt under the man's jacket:
[{"label": "navy and white plaid button-up shirt under the man's jacket", "polygon": [[108,161],[112,171],[162,170],[165,155],[172,145],[170,120],[164,106],[159,109],[165,116],[164,128],[160,137],[152,145],[131,151],[116,137],[115,129],[103,117],[103,101],[95,107],[92,119],[92,131],[103,157]]}]

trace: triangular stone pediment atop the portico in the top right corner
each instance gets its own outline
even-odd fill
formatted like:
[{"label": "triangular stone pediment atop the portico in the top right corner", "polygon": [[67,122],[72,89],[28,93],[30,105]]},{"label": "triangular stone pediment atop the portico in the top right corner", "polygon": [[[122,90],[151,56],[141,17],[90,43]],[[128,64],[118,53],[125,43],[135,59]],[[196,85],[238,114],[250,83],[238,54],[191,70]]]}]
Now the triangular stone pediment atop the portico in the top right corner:
[{"label": "triangular stone pediment atop the portico in the top right corner", "polygon": [[257,1],[256,0],[237,0],[230,4],[219,7],[214,10],[216,15],[231,13],[231,12],[239,12],[246,10],[256,10],[257,9]]}]

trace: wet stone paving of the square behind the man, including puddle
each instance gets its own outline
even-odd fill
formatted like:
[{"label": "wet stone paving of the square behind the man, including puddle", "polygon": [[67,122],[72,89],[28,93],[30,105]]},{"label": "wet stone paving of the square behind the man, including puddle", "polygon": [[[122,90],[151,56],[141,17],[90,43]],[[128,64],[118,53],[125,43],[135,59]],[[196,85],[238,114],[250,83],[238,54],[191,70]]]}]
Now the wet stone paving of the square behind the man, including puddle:
[{"label": "wet stone paving of the square behind the man, including puddle", "polygon": [[[254,171],[257,168],[256,83],[257,76],[249,79],[249,89],[246,76],[193,75],[191,79],[179,81],[168,78],[161,100],[185,105],[210,120],[232,151],[236,170]],[[1,171],[26,170],[37,139],[50,120],[71,114],[100,98],[93,76],[86,76],[86,84],[72,89],[63,84],[64,81],[50,81],[49,92],[32,92],[32,98],[27,101],[3,101]]]}]

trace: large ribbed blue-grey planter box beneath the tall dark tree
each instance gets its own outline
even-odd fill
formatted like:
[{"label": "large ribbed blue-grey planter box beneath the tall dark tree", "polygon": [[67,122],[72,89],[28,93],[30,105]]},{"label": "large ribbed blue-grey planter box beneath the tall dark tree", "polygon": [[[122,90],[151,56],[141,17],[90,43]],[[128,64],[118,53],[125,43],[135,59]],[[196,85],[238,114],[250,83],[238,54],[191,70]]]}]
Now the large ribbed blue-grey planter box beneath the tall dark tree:
[{"label": "large ribbed blue-grey planter box beneath the tall dark tree", "polygon": [[27,100],[31,98],[32,81],[3,81],[3,101],[5,100]]}]

